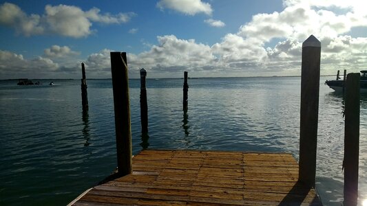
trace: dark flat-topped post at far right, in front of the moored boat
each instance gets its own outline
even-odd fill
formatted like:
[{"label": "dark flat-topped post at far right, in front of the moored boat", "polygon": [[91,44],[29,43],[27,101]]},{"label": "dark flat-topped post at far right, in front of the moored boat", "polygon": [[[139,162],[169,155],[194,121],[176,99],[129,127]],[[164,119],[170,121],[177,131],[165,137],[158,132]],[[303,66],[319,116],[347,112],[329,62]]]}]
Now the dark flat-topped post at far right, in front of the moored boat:
[{"label": "dark flat-topped post at far right, in front of the moored boat", "polygon": [[359,161],[359,73],[348,73],[344,115],[344,205],[357,205]]}]

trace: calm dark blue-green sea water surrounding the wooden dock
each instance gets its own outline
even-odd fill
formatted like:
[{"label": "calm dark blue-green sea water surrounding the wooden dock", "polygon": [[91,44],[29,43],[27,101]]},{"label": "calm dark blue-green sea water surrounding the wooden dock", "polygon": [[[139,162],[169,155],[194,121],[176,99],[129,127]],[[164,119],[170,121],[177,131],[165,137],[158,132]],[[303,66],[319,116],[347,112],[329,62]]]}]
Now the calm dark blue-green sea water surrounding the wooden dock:
[{"label": "calm dark blue-green sea water surrounding the wooden dock", "polygon": [[[333,79],[328,77],[328,79]],[[320,80],[317,190],[341,205],[342,95]],[[0,205],[66,205],[116,168],[111,80],[0,81]],[[130,80],[132,143],[148,148],[291,152],[298,159],[300,78],[149,79],[149,139],[140,133],[140,80]],[[367,199],[367,96],[361,97],[359,200]]]}]

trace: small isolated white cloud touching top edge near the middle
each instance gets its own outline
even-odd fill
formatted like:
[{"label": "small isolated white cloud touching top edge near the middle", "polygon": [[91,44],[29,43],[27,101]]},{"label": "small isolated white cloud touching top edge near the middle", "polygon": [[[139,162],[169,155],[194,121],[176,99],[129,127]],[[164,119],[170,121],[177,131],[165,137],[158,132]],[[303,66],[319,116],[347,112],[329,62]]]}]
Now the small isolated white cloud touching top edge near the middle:
[{"label": "small isolated white cloud touching top edge near the middle", "polygon": [[161,10],[165,8],[176,10],[177,12],[191,16],[198,13],[210,15],[213,12],[211,5],[201,0],[160,0],[157,3],[157,7]]}]

